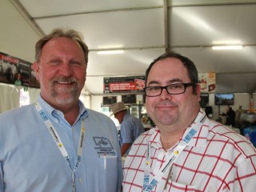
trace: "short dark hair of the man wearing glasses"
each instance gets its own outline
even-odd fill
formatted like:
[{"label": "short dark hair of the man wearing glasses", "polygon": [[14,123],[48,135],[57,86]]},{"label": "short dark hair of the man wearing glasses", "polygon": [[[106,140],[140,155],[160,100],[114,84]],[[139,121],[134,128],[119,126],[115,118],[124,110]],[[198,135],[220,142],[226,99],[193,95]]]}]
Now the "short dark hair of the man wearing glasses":
[{"label": "short dark hair of the man wearing glasses", "polygon": [[183,65],[186,67],[186,70],[188,71],[190,81],[192,83],[194,83],[193,93],[196,94],[195,87],[196,87],[196,84],[198,83],[198,70],[197,70],[196,66],[194,65],[194,62],[192,62],[189,58],[186,58],[182,54],[178,54],[173,51],[166,52],[165,54],[160,55],[158,58],[155,58],[154,61],[150,63],[150,66],[146,70],[145,86],[146,86],[147,78],[150,74],[150,70],[151,70],[152,66],[154,66],[154,64],[156,62],[164,60],[166,58],[178,58],[183,63]]}]

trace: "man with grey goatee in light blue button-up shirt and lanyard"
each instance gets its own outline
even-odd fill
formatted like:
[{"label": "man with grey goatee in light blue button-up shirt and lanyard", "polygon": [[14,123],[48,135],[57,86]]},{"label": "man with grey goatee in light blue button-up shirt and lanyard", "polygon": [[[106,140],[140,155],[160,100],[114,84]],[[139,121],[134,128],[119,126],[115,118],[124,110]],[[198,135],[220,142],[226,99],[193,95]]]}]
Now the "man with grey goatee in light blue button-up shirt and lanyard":
[{"label": "man with grey goatee in light blue button-up shirt and lanyard", "polygon": [[114,122],[86,109],[88,48],[75,30],[53,30],[35,46],[38,102],[0,115],[0,191],[121,191]]}]

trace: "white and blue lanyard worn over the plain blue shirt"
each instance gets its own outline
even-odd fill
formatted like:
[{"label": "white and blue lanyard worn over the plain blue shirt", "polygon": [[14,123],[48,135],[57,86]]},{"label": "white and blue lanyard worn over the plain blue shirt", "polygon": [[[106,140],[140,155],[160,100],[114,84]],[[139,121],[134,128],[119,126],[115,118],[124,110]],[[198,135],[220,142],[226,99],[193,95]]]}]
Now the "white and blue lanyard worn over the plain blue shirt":
[{"label": "white and blue lanyard worn over the plain blue shirt", "polygon": [[65,146],[64,146],[61,138],[58,136],[58,133],[55,130],[53,124],[50,122],[50,119],[47,117],[47,114],[45,113],[45,111],[42,110],[42,106],[38,102],[35,103],[35,107],[38,110],[38,114],[42,118],[43,122],[46,124],[46,127],[50,131],[51,136],[54,138],[54,141],[55,141],[56,145],[58,146],[58,149],[61,151],[63,158],[66,160],[68,166],[70,167],[71,178],[72,178],[72,192],[75,192],[76,187],[75,187],[74,172],[75,172],[75,170],[77,170],[78,165],[81,162],[81,158],[82,158],[83,140],[84,140],[85,134],[86,134],[85,119],[82,120],[82,122],[81,122],[81,130],[80,130],[80,136],[79,136],[79,142],[78,142],[78,157],[77,157],[77,162],[74,166],[74,169],[72,170],[69,155],[67,154]]}]

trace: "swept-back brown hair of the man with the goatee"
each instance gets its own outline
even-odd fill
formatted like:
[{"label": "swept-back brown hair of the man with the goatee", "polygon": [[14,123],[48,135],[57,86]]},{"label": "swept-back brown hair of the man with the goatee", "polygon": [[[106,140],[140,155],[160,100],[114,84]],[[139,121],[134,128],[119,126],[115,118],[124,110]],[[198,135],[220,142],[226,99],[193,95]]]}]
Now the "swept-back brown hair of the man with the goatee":
[{"label": "swept-back brown hair of the man with the goatee", "polygon": [[88,63],[88,47],[86,46],[86,43],[83,41],[82,34],[78,33],[76,30],[64,30],[64,29],[55,29],[50,34],[47,34],[43,38],[41,38],[35,45],[35,61],[39,62],[40,57],[42,54],[42,47],[46,45],[46,42],[49,42],[53,38],[70,38],[73,39],[75,42],[78,42],[78,44],[81,46],[86,59],[86,65]]}]

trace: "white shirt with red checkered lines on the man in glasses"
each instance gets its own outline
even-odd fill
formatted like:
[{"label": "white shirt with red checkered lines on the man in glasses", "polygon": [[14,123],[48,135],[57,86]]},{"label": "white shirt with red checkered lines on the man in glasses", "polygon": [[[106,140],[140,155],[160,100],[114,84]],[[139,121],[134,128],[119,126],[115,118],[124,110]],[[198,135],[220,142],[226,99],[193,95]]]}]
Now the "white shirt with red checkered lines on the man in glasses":
[{"label": "white shirt with red checkered lines on the man in glasses", "polygon": [[[201,109],[198,115],[205,113]],[[195,122],[191,126],[195,126]],[[124,192],[143,190],[148,143],[151,154],[150,181],[154,177],[154,169],[161,169],[168,161],[158,128],[142,134],[126,157],[122,181]],[[167,153],[173,149],[167,150]],[[172,178],[167,171],[152,191],[255,191],[256,149],[247,138],[206,118],[170,171]]]}]

